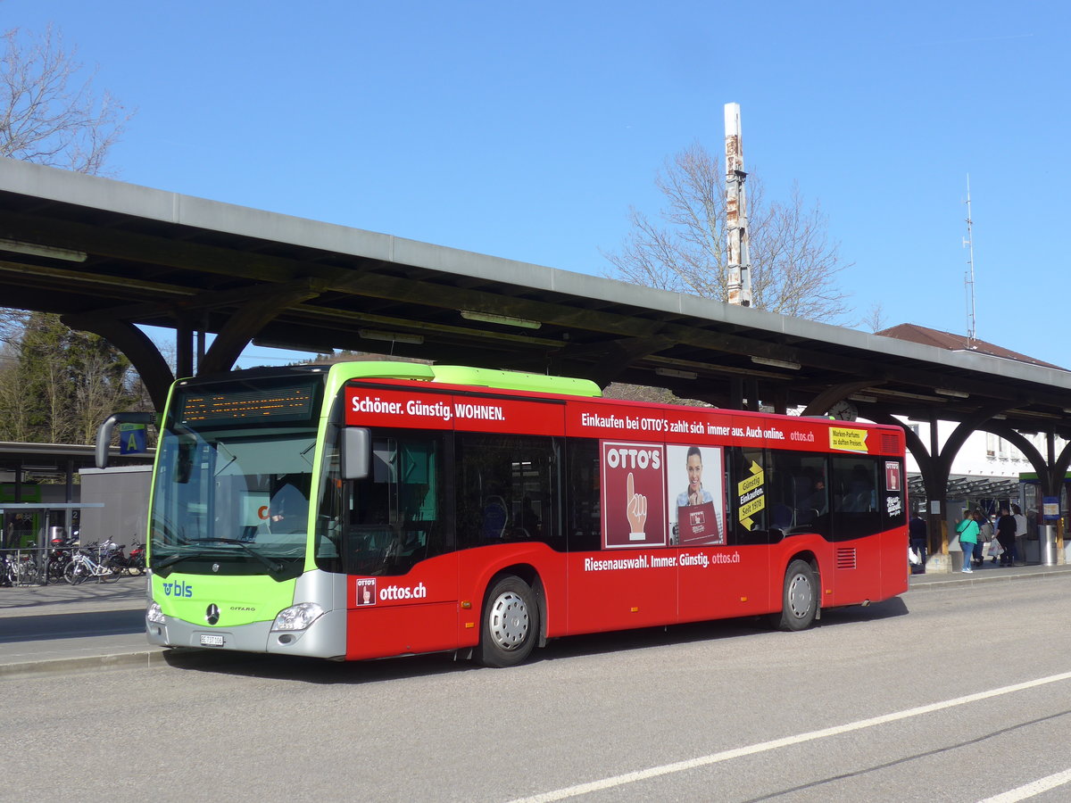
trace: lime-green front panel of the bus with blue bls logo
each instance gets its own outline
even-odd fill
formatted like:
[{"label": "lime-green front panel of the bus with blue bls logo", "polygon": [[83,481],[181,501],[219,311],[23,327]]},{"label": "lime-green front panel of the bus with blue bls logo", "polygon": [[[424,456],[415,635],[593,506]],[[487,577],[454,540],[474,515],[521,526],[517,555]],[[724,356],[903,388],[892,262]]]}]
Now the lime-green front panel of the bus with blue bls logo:
[{"label": "lime-green front panel of the bus with blue bls logo", "polygon": [[[205,627],[237,627],[253,622],[270,622],[293,605],[297,579],[276,582],[271,577],[236,577],[180,574],[153,576],[152,599],[164,616],[175,617]],[[220,621],[206,621],[208,607],[220,609]]]}]

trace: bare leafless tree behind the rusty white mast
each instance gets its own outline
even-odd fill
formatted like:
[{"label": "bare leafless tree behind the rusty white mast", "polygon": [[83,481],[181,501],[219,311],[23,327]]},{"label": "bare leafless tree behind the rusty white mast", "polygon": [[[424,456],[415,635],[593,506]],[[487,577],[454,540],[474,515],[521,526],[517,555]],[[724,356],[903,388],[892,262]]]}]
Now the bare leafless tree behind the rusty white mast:
[{"label": "bare leafless tree behind the rusty white mast", "polygon": [[[661,221],[632,209],[632,232],[608,276],[719,301],[728,300],[725,172],[700,145],[667,161],[655,179],[666,199]],[[797,187],[787,203],[767,202],[761,182],[748,178],[753,305],[782,315],[835,321],[848,312],[836,285],[839,245],[827,236],[820,207],[805,206]]]}]

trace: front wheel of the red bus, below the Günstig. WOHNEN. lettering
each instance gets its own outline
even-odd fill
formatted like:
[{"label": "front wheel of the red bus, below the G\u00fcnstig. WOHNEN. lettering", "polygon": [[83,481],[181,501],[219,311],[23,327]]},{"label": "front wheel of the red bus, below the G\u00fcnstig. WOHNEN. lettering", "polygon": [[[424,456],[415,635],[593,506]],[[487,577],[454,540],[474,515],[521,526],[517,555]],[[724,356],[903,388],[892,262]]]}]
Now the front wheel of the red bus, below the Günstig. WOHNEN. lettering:
[{"label": "front wheel of the red bus, below the G\u00fcnstig. WOHNEN. lettering", "polygon": [[500,577],[487,592],[480,625],[478,661],[515,666],[531,654],[539,638],[539,606],[531,587],[514,575]]}]

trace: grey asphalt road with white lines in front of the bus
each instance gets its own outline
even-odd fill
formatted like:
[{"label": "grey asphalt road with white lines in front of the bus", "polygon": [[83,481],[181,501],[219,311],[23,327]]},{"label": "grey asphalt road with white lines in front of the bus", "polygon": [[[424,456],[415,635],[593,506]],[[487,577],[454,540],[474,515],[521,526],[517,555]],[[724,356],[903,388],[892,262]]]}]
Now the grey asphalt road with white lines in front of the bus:
[{"label": "grey asphalt road with white lines in front of the bus", "polygon": [[1011,801],[1040,782],[1031,800],[1062,801],[1069,592],[564,639],[506,670],[186,654],[10,678],[0,800]]}]

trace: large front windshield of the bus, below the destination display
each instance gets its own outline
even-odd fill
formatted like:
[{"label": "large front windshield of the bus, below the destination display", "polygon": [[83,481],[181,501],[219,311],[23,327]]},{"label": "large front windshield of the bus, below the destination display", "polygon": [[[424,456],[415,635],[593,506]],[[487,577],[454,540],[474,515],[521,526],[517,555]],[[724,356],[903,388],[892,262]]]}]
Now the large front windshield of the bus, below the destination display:
[{"label": "large front windshield of the bus, below the destination display", "polygon": [[165,431],[152,569],[296,576],[307,541],[315,445],[311,425]]}]

